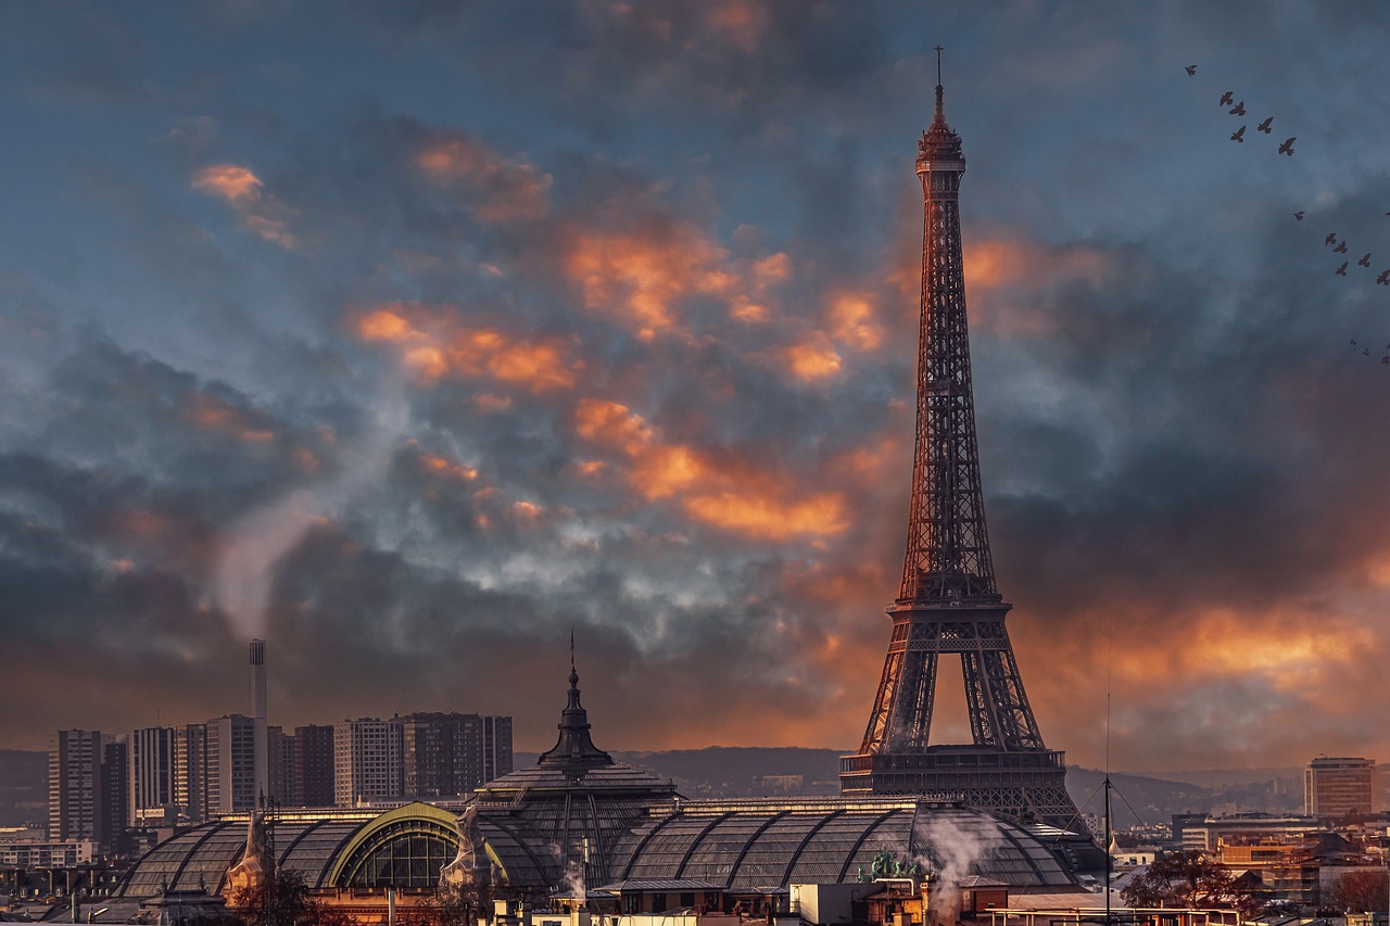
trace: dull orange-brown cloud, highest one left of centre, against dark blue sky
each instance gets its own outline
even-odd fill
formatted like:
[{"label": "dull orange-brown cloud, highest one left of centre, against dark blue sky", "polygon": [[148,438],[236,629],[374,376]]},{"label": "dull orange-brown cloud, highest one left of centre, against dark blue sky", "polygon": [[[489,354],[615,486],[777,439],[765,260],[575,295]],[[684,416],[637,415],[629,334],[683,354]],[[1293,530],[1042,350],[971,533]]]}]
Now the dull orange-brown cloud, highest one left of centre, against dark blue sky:
[{"label": "dull orange-brown cloud, highest one left of centre, against dark blue sky", "polygon": [[436,139],[420,152],[416,164],[436,184],[466,188],[484,221],[539,218],[549,207],[549,174],[502,157],[477,139]]}]

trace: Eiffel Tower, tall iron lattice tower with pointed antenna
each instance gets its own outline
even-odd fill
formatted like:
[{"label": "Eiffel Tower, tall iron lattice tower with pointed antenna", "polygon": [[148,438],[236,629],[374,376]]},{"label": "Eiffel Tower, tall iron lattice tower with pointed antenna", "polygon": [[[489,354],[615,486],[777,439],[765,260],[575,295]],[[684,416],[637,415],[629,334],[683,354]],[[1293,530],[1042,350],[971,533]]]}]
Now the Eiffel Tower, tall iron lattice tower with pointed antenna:
[{"label": "Eiffel Tower, tall iron lattice tower with pointed antenna", "polygon": [[[984,528],[960,268],[960,136],[942,110],[917,143],[924,200],[917,441],[908,555],[888,606],[892,637],[869,727],[841,758],[844,794],[938,795],[1020,822],[1084,833],[1066,793],[1063,754],[1042,744],[1023,692]],[[958,653],[970,745],[930,745],[937,658]]]}]

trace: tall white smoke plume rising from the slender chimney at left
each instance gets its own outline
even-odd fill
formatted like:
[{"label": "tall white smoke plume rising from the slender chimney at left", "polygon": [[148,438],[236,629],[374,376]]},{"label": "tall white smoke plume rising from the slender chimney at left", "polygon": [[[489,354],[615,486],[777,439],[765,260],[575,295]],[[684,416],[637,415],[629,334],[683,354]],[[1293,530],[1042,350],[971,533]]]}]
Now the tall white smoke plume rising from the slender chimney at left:
[{"label": "tall white smoke plume rising from the slender chimney at left", "polygon": [[243,637],[265,637],[265,605],[275,567],[285,555],[314,521],[341,513],[385,473],[410,417],[400,384],[378,396],[371,412],[366,432],[343,449],[338,473],[331,480],[295,489],[256,509],[222,538],[213,596]]}]

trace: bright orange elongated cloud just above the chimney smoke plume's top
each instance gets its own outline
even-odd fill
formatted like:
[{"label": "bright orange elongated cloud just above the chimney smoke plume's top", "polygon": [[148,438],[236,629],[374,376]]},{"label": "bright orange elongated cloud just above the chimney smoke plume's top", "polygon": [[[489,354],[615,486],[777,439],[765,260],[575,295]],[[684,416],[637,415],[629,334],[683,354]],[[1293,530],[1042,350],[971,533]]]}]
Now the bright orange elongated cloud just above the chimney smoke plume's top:
[{"label": "bright orange elongated cloud just above the chimney smoke plume's top", "polygon": [[[402,360],[423,380],[442,377],[491,378],[525,387],[531,392],[569,389],[584,368],[571,360],[564,342],[555,338],[521,339],[496,328],[459,323],[449,306],[395,302],[356,318],[363,341],[382,341],[402,348]],[[489,396],[488,405],[500,399]]]}]

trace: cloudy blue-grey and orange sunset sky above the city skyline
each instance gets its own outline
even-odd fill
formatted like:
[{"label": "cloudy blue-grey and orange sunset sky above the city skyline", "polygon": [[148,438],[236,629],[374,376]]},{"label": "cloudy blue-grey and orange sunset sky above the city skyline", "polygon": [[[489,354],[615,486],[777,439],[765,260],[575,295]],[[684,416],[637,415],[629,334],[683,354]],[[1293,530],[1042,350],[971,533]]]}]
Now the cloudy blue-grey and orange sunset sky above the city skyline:
[{"label": "cloudy blue-grey and orange sunset sky above the city skyline", "polygon": [[935,44],[1048,745],[1390,759],[1369,1],[0,4],[0,747],[245,712],[261,635],[272,723],[543,749],[573,630],[603,748],[856,748]]}]

